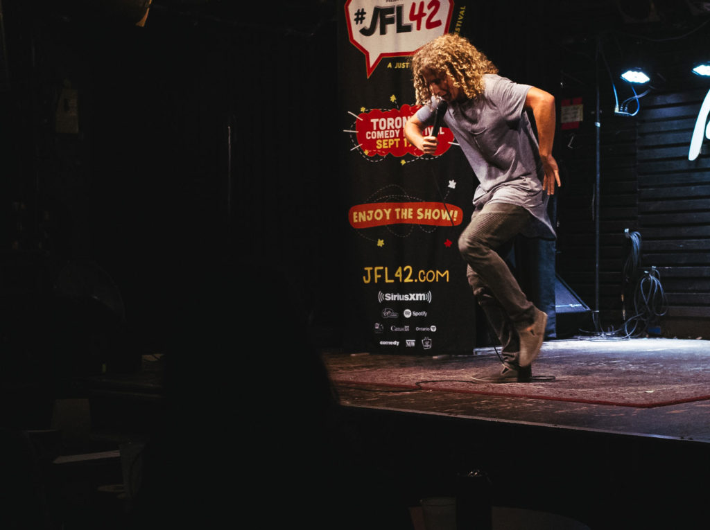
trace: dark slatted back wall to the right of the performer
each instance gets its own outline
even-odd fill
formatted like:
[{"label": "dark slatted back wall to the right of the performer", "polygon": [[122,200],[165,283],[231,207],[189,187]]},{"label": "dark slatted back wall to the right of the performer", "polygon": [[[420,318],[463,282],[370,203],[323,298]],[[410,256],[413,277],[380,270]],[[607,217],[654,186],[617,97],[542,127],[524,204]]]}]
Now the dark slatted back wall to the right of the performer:
[{"label": "dark slatted back wall to the right of the performer", "polygon": [[[620,329],[623,311],[627,319],[638,313],[633,304],[638,275],[656,267],[667,308],[650,326],[652,334],[706,337],[707,140],[697,160],[689,161],[688,152],[710,89],[707,78],[692,73],[700,60],[707,61],[709,13],[697,2],[567,4],[573,3],[564,3],[569,16],[560,19],[564,35],[559,39],[557,97],[581,97],[584,121],[577,129],[558,129],[556,138],[557,158],[567,176],[558,202],[557,270],[587,304],[600,310],[601,327],[608,330]],[[638,114],[618,115],[613,89],[620,103],[633,96],[619,79],[632,62],[652,72],[650,91],[638,100],[640,108],[628,104],[628,113]],[[597,93],[600,113],[595,120]],[[599,150],[595,121],[600,123]],[[597,177],[599,211],[594,201]],[[626,229],[636,231],[642,241],[638,275],[630,278]]]}]

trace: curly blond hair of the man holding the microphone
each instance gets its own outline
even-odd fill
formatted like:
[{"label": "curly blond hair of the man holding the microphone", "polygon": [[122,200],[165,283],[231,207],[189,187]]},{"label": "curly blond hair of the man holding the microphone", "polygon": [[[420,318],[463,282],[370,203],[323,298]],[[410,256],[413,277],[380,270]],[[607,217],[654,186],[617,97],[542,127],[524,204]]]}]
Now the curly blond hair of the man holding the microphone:
[{"label": "curly blond hair of the man holding the microphone", "polygon": [[447,33],[417,50],[412,57],[417,103],[430,104],[432,91],[424,79],[424,70],[449,74],[454,86],[466,97],[476,99],[484,92],[484,74],[497,74],[498,68],[479,52],[468,39]]}]

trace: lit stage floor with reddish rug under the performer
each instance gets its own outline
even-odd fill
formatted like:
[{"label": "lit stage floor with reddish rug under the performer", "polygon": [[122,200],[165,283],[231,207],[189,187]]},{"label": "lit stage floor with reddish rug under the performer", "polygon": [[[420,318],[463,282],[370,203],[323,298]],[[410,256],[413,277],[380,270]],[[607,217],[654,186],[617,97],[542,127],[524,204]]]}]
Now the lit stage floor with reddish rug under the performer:
[{"label": "lit stage floor with reddish rug under the performer", "polygon": [[479,384],[469,356],[323,354],[346,407],[710,442],[710,341],[547,341],[530,383]]}]

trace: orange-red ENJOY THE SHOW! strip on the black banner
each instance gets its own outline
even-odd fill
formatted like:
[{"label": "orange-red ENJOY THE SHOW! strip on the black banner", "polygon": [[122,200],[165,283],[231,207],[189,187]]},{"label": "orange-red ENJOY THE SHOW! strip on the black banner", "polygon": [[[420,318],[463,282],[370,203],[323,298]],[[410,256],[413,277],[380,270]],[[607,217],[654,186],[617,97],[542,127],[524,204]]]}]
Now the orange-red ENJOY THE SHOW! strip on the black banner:
[{"label": "orange-red ENJOY THE SHOW! strip on the black banner", "polygon": [[388,224],[452,226],[461,224],[462,216],[459,206],[443,202],[373,202],[353,206],[348,214],[353,228]]}]

